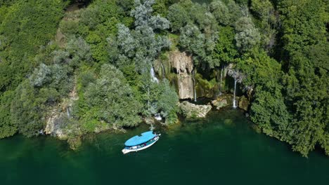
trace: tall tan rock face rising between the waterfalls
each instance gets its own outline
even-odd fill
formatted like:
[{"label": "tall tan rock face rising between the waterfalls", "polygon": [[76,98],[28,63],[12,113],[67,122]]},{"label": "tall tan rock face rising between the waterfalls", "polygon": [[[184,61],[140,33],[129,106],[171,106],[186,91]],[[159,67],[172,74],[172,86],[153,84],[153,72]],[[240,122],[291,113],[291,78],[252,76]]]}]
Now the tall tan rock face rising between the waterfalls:
[{"label": "tall tan rock face rising between the waterfalls", "polygon": [[177,75],[179,99],[194,98],[193,60],[185,52],[174,51],[169,55],[170,65]]}]

